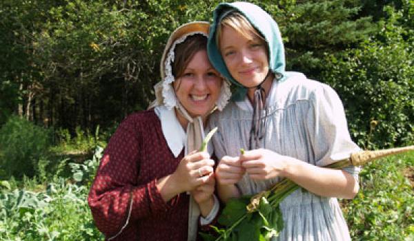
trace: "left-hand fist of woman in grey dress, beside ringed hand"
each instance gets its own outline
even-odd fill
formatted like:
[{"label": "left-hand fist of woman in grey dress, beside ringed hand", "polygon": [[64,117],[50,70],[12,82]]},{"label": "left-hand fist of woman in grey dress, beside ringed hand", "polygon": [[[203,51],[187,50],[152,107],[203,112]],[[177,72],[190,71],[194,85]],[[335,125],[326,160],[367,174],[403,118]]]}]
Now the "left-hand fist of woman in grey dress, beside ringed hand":
[{"label": "left-hand fist of woman in grey dress, beside ringed hand", "polygon": [[220,185],[234,185],[242,179],[245,171],[239,156],[224,156],[217,165],[215,175]]}]

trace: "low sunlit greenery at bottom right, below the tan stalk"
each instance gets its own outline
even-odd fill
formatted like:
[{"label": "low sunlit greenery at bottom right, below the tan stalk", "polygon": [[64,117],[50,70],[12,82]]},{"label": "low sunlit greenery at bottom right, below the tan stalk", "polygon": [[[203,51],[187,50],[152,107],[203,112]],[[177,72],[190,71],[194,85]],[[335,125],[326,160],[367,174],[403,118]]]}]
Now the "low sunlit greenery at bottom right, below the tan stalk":
[{"label": "low sunlit greenery at bottom right, below the tan stalk", "polygon": [[[342,200],[352,240],[414,237],[414,153],[377,160],[359,174],[360,190]],[[407,171],[407,176],[404,176]],[[411,178],[413,183],[410,183]]]}]

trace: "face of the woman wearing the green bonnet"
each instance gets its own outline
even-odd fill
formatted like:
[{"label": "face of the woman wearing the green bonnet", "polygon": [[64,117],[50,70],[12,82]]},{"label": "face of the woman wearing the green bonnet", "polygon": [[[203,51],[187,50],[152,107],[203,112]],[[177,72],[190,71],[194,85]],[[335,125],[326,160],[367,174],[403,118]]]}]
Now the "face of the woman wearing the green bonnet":
[{"label": "face of the woman wearing the green bonnet", "polygon": [[266,42],[249,32],[249,36],[228,25],[221,29],[219,49],[228,72],[245,87],[262,83],[269,71]]}]

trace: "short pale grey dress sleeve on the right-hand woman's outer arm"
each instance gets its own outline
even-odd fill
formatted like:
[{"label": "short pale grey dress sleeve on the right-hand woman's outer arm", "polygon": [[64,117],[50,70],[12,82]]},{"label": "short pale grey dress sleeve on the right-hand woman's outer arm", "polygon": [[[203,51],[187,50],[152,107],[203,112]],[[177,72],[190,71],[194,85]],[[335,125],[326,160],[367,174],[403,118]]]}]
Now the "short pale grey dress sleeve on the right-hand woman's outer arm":
[{"label": "short pale grey dress sleeve on the right-hand woman's outer arm", "polygon": [[[317,166],[326,166],[348,158],[359,151],[348,132],[344,106],[337,93],[328,85],[315,90],[311,97],[307,125]],[[355,178],[359,167],[346,167]]]}]

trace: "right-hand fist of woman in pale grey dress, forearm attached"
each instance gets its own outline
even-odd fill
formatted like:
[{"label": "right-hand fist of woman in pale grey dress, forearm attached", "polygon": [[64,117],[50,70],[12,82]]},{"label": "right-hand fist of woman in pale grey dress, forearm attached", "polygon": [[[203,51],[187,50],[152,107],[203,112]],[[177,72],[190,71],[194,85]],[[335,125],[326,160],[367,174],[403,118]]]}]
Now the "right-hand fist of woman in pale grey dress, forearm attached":
[{"label": "right-hand fist of woman in pale grey dress, forearm attached", "polygon": [[245,151],[240,156],[242,167],[252,179],[266,180],[282,176],[288,160],[287,156],[282,156],[268,149],[254,149]]}]

